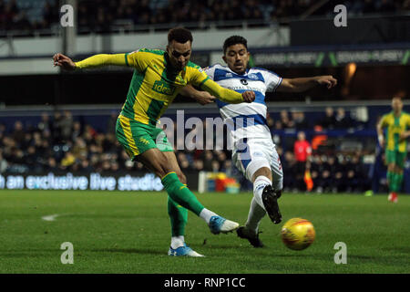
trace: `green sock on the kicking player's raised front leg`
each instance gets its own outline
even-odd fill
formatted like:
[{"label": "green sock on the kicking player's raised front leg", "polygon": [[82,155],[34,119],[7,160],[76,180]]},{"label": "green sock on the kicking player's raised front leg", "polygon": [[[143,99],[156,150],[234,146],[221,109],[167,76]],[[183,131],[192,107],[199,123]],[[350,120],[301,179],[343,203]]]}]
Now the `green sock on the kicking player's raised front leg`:
[{"label": "green sock on the kicking player's raised front leg", "polygon": [[186,185],[180,183],[177,173],[167,173],[161,179],[161,182],[172,201],[200,215],[200,211],[204,208],[203,205],[195,197],[195,194],[190,192],[190,189]]}]

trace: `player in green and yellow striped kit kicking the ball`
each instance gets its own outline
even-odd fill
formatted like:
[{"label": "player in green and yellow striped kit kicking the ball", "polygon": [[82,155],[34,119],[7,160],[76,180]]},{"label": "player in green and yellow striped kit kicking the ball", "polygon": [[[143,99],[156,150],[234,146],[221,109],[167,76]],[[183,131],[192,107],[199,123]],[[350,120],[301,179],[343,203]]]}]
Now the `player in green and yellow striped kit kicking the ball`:
[{"label": "player in green and yellow striped kit kicking the ball", "polygon": [[[177,27],[169,30],[166,51],[141,48],[128,54],[99,54],[80,62],[73,62],[63,54],[56,54],[54,65],[67,70],[98,68],[117,65],[134,68],[128,96],[118,116],[117,139],[133,161],[142,162],[161,178],[168,197],[171,223],[169,255],[203,256],[185,244],[185,225],[188,210],[197,214],[210,227],[213,234],[228,233],[239,224],[206,209],[187,187],[185,175],[180,171],[175,153],[164,131],[157,128],[160,116],[187,84],[198,86],[202,99],[230,103],[251,102],[252,91],[243,93],[223,89],[190,62],[192,35]],[[188,210],[187,210],[188,209]]]}]

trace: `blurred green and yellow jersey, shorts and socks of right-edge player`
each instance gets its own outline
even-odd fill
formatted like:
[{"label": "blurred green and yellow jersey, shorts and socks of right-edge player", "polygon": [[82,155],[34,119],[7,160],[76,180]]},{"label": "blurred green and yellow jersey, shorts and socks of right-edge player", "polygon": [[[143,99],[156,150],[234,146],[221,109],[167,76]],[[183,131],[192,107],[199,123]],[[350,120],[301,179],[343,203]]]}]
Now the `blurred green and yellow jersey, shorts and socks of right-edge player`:
[{"label": "blurred green and yellow jersey, shorts and socks of right-edge player", "polygon": [[400,139],[400,134],[410,128],[410,115],[406,112],[399,117],[395,113],[389,112],[380,120],[382,128],[385,130],[385,161],[387,164],[395,164],[402,171],[387,172],[387,181],[390,191],[399,192],[403,182],[403,169],[405,167],[405,157],[407,156],[407,141]]}]

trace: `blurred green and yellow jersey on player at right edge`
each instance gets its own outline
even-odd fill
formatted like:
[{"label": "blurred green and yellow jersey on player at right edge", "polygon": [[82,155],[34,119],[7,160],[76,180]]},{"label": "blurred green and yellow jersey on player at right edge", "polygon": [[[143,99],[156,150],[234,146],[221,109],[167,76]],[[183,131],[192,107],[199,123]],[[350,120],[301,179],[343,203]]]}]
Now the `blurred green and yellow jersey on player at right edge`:
[{"label": "blurred green and yellow jersey on player at right edge", "polygon": [[395,113],[391,111],[382,117],[380,125],[386,128],[386,150],[405,152],[407,141],[400,141],[400,133],[410,127],[410,115],[402,111],[400,117],[395,117]]}]

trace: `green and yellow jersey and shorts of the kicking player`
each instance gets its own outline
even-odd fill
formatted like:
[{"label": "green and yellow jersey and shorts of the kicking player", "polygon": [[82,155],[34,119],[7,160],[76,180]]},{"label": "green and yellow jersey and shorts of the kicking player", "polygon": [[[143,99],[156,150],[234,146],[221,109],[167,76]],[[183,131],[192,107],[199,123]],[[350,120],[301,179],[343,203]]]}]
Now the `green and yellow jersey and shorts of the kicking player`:
[{"label": "green and yellow jersey and shorts of the kicking player", "polygon": [[173,151],[165,133],[156,125],[179,89],[187,84],[208,89],[222,101],[243,101],[240,93],[221,88],[191,62],[182,71],[175,71],[163,50],[142,48],[129,54],[100,54],[76,63],[77,68],[104,65],[135,68],[127,100],[118,117],[116,133],[132,160],[151,148]]}]

